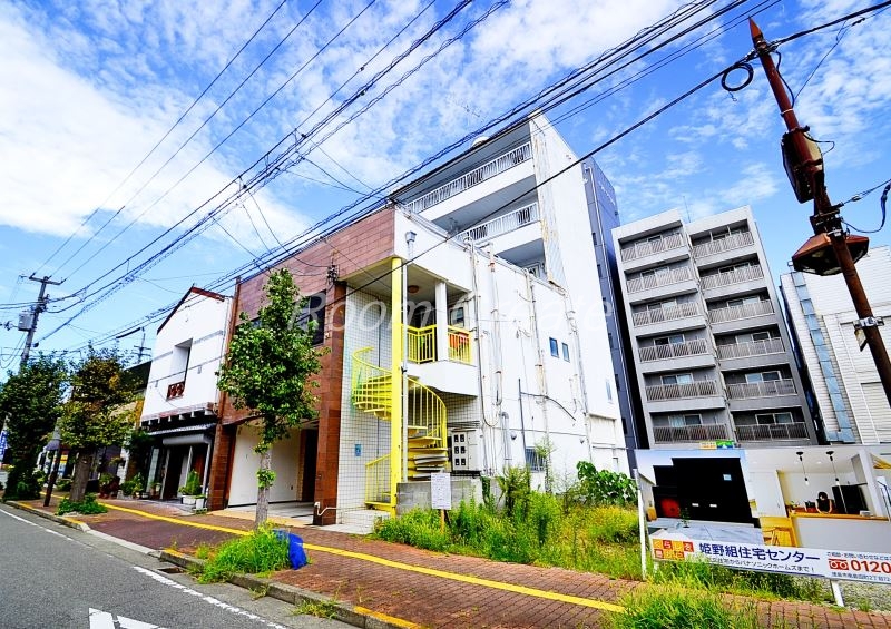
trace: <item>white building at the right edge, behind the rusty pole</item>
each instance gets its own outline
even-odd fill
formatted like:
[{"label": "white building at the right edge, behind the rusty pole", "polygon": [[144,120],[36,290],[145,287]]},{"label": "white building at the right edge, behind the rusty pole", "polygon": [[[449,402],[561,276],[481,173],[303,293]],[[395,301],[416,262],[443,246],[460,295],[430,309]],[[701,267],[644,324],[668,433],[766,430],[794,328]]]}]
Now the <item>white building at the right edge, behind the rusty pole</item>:
[{"label": "white building at the right edge, behind the rusty pole", "polygon": [[[873,248],[856,267],[873,314],[885,322],[879,328],[882,338],[891,346],[891,248]],[[781,275],[780,282],[812,411],[822,420],[826,441],[891,442],[891,409],[869,347],[860,348],[854,332],[860,317],[844,278],[795,272]]]}]

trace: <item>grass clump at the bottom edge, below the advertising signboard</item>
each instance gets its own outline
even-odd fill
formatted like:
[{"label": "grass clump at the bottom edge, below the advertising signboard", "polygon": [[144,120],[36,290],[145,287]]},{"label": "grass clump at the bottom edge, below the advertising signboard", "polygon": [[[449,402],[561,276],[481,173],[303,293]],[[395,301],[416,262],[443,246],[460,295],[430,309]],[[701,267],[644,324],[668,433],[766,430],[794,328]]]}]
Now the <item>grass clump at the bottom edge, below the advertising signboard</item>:
[{"label": "grass clump at the bottom edge, below the advertising signboard", "polygon": [[731,607],[713,592],[679,586],[642,588],[623,598],[625,613],[609,616],[613,629],[757,629],[754,606]]}]

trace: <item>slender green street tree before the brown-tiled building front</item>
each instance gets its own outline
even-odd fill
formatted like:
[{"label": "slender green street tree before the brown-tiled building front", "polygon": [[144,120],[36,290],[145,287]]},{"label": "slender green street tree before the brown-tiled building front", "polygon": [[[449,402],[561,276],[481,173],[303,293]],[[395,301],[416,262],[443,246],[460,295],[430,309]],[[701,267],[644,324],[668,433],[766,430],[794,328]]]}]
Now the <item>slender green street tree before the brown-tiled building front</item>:
[{"label": "slender green street tree before the brown-tiled building front", "polygon": [[315,322],[302,321],[300,289],[287,269],[270,275],[267,304],[256,322],[241,313],[226,360],[219,368],[219,390],[233,397],[236,409],[246,409],[261,420],[255,527],[266,521],[270,489],[275,482],[272,446],[288,435],[288,429],[317,415],[317,382],[321,351],[313,348]]}]

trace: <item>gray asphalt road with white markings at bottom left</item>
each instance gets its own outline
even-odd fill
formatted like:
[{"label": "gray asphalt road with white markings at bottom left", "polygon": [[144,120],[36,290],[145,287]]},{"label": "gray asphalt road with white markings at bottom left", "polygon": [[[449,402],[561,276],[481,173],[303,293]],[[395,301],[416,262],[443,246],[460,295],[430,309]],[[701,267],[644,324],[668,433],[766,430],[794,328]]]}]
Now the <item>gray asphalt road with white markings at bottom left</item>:
[{"label": "gray asphalt road with white markings at bottom left", "polygon": [[335,629],[229,584],[202,586],[138,547],[0,505],[3,629]]}]

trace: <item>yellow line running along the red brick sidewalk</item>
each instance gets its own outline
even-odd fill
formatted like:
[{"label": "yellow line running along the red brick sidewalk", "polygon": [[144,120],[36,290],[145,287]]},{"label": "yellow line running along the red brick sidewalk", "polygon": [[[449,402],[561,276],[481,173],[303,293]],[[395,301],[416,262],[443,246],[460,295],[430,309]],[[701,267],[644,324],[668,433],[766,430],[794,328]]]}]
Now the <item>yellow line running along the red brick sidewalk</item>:
[{"label": "yellow line running along the red brick sidewalk", "polygon": [[[128,509],[126,507],[117,507],[115,504],[107,504],[106,507],[109,509],[115,509],[117,511],[125,511],[127,513],[134,513],[136,515],[141,515],[144,518],[149,518],[151,520],[161,520],[165,522],[173,522],[174,524],[180,524],[183,527],[195,527],[197,529],[208,529],[212,531],[222,531],[225,533],[233,533],[236,535],[246,535],[249,531],[241,531],[238,529],[228,529],[226,527],[216,527],[214,524],[204,524],[200,522],[187,522],[182,519],[177,518],[168,518],[167,515],[156,515],[155,513],[148,513],[146,511],[139,511],[137,509]],[[407,572],[417,572],[419,574],[427,574],[430,577],[439,577],[441,579],[449,579],[452,581],[459,581],[462,583],[471,583],[473,586],[482,586],[484,588],[492,588],[495,590],[503,590],[507,592],[515,592],[518,594],[526,594],[529,597],[536,597],[540,599],[567,602],[570,605],[578,605],[581,607],[590,607],[594,609],[603,609],[605,611],[614,611],[614,612],[624,612],[625,608],[615,605],[611,602],[595,600],[595,599],[586,599],[584,597],[576,597],[572,594],[562,594],[560,592],[549,592],[547,590],[539,590],[537,588],[529,588],[527,586],[517,586],[513,583],[503,583],[501,581],[492,581],[490,579],[482,579],[480,577],[471,577],[469,574],[458,574],[456,572],[447,572],[444,570],[437,570],[435,568],[425,568],[423,566],[413,566],[411,563],[403,563],[401,561],[392,561],[390,559],[384,559],[382,557],[375,557],[373,554],[368,554],[364,552],[355,552],[352,550],[344,550],[341,548],[331,548],[325,546],[317,546],[313,543],[304,543],[304,548],[307,550],[315,550],[319,552],[327,552],[330,554],[337,554],[340,557],[347,557],[350,559],[359,559],[362,561],[368,561],[370,563],[378,563],[379,566],[386,566],[388,568],[395,568],[398,570],[405,570]]]}]

